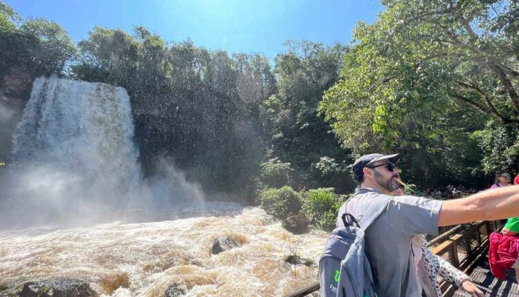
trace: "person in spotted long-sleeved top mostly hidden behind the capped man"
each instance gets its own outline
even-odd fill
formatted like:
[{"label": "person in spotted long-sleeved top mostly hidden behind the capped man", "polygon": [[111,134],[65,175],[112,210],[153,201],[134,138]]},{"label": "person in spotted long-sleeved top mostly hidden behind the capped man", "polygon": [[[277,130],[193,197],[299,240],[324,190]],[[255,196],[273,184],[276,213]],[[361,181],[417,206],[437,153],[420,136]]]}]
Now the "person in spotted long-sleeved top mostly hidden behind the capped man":
[{"label": "person in spotted long-sleeved top mostly hidden behind the capped man", "polygon": [[[392,196],[404,195],[404,189],[406,184],[401,180],[397,180],[400,187],[391,192]],[[519,227],[519,226],[518,226]],[[415,260],[415,267],[419,273],[417,274],[418,282],[421,283],[421,287],[428,288],[425,294],[428,297],[435,296],[441,297],[441,289],[439,287],[438,277],[453,282],[457,287],[461,287],[467,291],[471,296],[483,297],[483,292],[478,289],[471,278],[469,278],[462,271],[459,271],[450,262],[444,260],[434,253],[427,247],[426,235],[416,235],[411,240],[412,256]],[[424,290],[426,291],[426,290]]]}]

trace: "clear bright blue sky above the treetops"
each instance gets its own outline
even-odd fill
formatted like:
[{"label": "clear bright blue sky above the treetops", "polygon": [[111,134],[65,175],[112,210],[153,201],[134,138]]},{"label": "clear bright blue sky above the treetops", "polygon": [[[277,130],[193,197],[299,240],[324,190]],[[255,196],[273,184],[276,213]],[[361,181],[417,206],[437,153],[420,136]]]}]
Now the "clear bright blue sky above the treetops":
[{"label": "clear bright blue sky above the treetops", "polygon": [[75,41],[93,26],[132,32],[145,26],[167,41],[273,58],[287,39],[349,44],[359,20],[372,23],[376,0],[3,0],[26,17],[60,23]]}]

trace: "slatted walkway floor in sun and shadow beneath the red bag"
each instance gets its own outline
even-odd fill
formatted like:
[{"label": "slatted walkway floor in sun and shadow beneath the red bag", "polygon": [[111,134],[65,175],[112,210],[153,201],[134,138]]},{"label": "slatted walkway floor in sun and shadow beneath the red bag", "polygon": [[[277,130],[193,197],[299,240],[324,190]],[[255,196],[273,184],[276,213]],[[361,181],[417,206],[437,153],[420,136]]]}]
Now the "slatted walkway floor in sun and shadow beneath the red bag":
[{"label": "slatted walkway floor in sun and shadow beneath the red bag", "polygon": [[[479,287],[484,293],[485,297],[498,297],[498,296],[510,296],[517,297],[518,286],[516,283],[516,271],[511,269],[507,271],[507,279],[500,280],[495,278],[489,267],[489,258],[484,256],[481,258],[477,267],[471,272],[471,279],[477,287]],[[462,289],[455,291],[454,297],[471,297]]]}]

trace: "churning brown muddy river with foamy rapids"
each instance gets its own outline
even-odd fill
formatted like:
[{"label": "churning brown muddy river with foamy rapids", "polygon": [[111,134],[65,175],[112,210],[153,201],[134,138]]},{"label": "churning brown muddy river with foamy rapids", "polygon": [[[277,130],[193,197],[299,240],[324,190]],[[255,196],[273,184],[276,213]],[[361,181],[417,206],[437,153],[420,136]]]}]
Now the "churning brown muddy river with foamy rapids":
[{"label": "churning brown muddy river with foamy rapids", "polygon": [[[293,235],[262,209],[229,202],[139,221],[0,231],[0,282],[80,278],[101,296],[164,296],[175,283],[186,296],[283,296],[317,280],[327,237],[315,230]],[[221,236],[242,247],[212,255]],[[292,254],[313,265],[284,262]]]}]

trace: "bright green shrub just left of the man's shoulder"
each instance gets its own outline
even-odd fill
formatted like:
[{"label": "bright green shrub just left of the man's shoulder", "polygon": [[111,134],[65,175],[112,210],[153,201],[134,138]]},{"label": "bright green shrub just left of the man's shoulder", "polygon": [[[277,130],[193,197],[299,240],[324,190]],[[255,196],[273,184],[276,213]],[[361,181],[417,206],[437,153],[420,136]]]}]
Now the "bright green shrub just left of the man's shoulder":
[{"label": "bright green shrub just left of the man's shoulder", "polygon": [[344,195],[335,195],[334,188],[312,189],[304,193],[302,212],[313,226],[333,230],[337,213],[345,202]]}]

